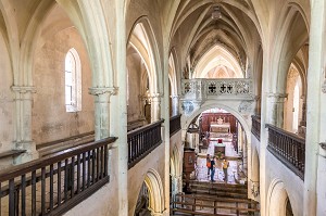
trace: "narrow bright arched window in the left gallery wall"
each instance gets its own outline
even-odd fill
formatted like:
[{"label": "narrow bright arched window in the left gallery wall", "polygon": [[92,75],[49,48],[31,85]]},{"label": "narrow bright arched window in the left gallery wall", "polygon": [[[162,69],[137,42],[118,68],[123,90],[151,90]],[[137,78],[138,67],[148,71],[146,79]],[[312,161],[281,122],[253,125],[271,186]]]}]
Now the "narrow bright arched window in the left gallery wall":
[{"label": "narrow bright arched window in the left gallery wall", "polygon": [[82,64],[77,51],[72,48],[65,55],[65,111],[82,111]]}]

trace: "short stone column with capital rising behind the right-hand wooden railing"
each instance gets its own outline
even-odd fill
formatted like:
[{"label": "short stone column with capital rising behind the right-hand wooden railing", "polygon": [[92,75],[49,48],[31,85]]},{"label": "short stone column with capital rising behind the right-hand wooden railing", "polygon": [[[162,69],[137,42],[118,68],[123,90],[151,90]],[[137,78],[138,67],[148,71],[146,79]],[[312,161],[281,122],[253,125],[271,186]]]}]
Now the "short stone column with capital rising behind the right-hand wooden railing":
[{"label": "short stone column with capital rising behind the right-hand wooden railing", "polygon": [[283,128],[284,125],[284,102],[287,94],[285,93],[268,93],[269,124]]}]

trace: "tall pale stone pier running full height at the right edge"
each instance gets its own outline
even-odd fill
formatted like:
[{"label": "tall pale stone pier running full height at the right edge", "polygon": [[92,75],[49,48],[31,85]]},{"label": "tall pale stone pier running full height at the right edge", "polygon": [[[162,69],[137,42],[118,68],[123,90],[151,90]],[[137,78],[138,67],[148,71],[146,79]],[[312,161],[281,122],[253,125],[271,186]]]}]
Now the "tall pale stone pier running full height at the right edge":
[{"label": "tall pale stone pier running full height at the right edge", "polygon": [[[303,215],[325,215],[325,152],[319,142],[325,141],[326,125],[323,119],[325,113],[325,94],[322,93],[322,84],[325,84],[325,13],[326,2],[312,2],[308,91],[306,91],[306,144],[304,168]],[[324,77],[323,77],[324,76]],[[323,176],[324,175],[324,176]]]}]

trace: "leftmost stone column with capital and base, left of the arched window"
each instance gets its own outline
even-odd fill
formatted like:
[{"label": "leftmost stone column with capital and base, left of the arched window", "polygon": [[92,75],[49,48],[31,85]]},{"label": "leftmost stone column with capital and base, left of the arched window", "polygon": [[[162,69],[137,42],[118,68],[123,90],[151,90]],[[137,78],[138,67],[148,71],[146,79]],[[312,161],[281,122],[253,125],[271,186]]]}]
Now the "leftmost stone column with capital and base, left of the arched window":
[{"label": "leftmost stone column with capital and base, left of the arched window", "polygon": [[32,104],[36,90],[32,86],[13,86],[12,90],[15,102],[14,149],[26,150],[26,153],[14,160],[14,164],[21,164],[38,158],[36,143],[32,139]]}]

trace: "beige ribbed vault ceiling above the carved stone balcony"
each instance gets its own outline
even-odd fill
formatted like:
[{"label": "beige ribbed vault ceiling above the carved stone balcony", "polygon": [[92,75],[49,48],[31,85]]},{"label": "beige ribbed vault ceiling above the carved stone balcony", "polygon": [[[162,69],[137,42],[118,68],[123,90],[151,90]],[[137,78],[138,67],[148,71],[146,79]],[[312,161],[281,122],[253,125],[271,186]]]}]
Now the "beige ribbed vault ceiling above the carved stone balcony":
[{"label": "beige ribbed vault ceiling above the carved stone balcony", "polygon": [[[216,13],[217,18],[213,18]],[[250,46],[261,42],[258,23],[253,7],[246,0],[181,1],[172,34],[185,36],[185,58],[190,58],[191,68],[220,46],[234,55],[244,72]]]}]

